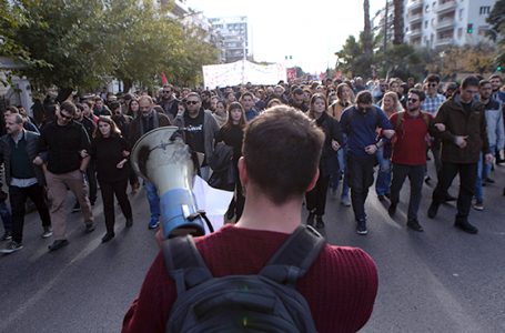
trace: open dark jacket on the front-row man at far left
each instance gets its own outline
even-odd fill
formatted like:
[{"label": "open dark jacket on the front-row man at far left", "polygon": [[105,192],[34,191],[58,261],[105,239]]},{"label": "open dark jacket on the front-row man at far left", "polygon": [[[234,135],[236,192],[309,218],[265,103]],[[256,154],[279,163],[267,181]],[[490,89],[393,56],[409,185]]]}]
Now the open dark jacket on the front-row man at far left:
[{"label": "open dark jacket on the front-row man at far left", "polygon": [[[37,158],[37,155],[38,155],[40,134],[30,132],[30,131],[26,131],[26,130],[23,132],[24,132],[24,140],[27,140],[28,159],[30,161],[33,161],[34,158]],[[6,169],[7,185],[9,185],[10,181],[11,181],[11,174],[10,174],[11,147],[10,147],[9,140],[12,140],[9,134],[6,134],[0,138],[0,163],[3,163],[3,167]],[[37,181],[39,182],[39,185],[44,186],[46,178],[43,175],[42,169],[33,163],[31,163],[31,167],[33,168]]]}]

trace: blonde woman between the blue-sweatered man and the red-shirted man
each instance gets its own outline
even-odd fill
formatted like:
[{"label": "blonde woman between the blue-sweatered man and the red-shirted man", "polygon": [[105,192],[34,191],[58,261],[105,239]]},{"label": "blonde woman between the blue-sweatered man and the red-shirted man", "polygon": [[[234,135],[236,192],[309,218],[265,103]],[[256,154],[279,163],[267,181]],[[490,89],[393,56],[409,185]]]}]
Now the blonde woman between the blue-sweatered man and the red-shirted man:
[{"label": "blonde woman between the blue-sweatered man and the red-shirted man", "polygon": [[[398,94],[395,91],[387,91],[382,98],[381,109],[387,118],[393,113],[403,111],[400,103]],[[394,125],[394,124],[393,124]],[[375,182],[375,192],[378,200],[383,201],[385,196],[390,196],[391,186],[391,141],[385,140],[384,144],[378,148],[375,157],[378,162],[377,180]]]}]

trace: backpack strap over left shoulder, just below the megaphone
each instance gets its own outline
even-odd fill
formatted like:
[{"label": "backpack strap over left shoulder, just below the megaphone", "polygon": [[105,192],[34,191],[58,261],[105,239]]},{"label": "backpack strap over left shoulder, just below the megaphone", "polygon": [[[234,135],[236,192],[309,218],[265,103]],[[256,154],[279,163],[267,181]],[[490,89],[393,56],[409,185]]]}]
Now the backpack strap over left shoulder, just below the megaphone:
[{"label": "backpack strap over left shoulder, just below the megaphone", "polygon": [[191,235],[165,240],[161,249],[178,295],[213,278]]}]

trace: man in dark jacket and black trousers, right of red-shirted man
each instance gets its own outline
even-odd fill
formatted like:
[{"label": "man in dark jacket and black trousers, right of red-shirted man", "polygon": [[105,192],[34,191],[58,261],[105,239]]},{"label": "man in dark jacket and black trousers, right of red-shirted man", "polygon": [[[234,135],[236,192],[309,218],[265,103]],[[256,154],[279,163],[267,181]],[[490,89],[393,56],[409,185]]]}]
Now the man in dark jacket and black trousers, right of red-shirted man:
[{"label": "man in dark jacket and black trousers, right of red-shirted man", "polygon": [[438,109],[435,122],[445,125],[445,131],[440,135],[443,142],[442,171],[428,209],[428,218],[434,219],[440,205],[445,201],[447,189],[456,174],[459,174],[454,225],[467,233],[478,232],[478,229],[468,222],[468,214],[475,193],[481,152],[484,153],[487,163],[493,160],[487,141],[485,107],[475,100],[477,93],[478,79],[473,75],[466,77],[459,93],[454,94]]}]

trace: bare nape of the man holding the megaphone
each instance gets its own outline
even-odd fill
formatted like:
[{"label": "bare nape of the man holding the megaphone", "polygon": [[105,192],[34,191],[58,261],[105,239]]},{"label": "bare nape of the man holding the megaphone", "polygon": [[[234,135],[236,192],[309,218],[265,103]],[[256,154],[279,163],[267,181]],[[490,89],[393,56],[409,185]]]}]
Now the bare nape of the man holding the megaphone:
[{"label": "bare nape of the man holding the megaphone", "polygon": [[252,186],[249,186],[248,190],[244,212],[236,226],[292,233],[302,223],[300,214],[302,198],[277,205],[266,199],[263,193],[254,191]]}]

